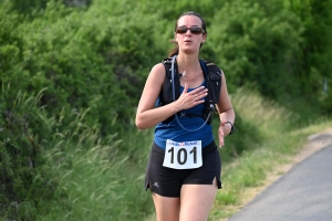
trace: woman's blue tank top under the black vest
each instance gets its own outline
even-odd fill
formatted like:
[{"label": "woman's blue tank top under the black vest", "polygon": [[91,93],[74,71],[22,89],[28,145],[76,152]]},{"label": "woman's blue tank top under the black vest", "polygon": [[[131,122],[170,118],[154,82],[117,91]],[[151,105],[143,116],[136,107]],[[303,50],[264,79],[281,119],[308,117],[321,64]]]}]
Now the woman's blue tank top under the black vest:
[{"label": "woman's blue tank top under the black vest", "polygon": [[[205,82],[201,84],[205,85]],[[195,88],[188,88],[188,92]],[[180,86],[180,93],[183,93],[184,87]],[[184,109],[184,113],[195,113],[201,114],[204,109],[204,104],[196,105],[189,109]],[[201,117],[180,117],[178,116],[179,123],[189,130],[195,130],[199,128],[205,119]],[[168,123],[159,123],[155,127],[155,143],[160,148],[166,148],[166,140],[172,139],[174,141],[193,141],[201,140],[201,147],[206,147],[214,140],[212,127],[210,124],[206,124],[203,128],[196,131],[187,131],[180,127],[176,118]]]}]

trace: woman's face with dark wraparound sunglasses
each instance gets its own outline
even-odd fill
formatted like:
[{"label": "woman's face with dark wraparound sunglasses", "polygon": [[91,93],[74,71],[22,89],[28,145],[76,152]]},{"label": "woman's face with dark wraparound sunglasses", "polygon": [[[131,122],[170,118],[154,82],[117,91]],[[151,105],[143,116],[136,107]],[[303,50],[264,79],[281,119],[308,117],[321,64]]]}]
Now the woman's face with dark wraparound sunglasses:
[{"label": "woman's face with dark wraparound sunglasses", "polygon": [[[190,28],[194,30],[189,30]],[[195,15],[184,15],[177,21],[177,30],[179,31],[176,31],[175,39],[179,51],[188,54],[198,53],[200,44],[206,40],[201,20]]]}]

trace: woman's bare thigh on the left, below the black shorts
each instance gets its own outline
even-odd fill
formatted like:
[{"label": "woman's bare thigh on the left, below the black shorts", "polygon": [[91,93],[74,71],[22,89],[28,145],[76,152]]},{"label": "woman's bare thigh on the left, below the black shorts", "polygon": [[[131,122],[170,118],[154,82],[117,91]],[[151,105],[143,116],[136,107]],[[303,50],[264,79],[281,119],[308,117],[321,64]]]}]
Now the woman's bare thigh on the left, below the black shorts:
[{"label": "woman's bare thigh on the left, below the black shorts", "polygon": [[156,215],[158,221],[178,221],[179,220],[179,198],[162,197],[155,192],[152,193]]}]

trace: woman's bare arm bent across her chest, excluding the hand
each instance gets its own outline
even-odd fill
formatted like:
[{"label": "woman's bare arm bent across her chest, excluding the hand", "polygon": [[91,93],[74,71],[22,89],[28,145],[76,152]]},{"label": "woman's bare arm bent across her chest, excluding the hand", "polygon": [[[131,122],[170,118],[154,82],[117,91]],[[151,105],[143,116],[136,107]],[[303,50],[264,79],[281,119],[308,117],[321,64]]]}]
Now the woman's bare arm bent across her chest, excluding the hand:
[{"label": "woman's bare arm bent across her chest, excluding the hand", "polygon": [[154,127],[158,123],[180,110],[175,102],[155,108],[155,103],[164,84],[165,75],[165,67],[162,63],[159,63],[152,69],[146,80],[135,119],[135,124],[138,129]]}]

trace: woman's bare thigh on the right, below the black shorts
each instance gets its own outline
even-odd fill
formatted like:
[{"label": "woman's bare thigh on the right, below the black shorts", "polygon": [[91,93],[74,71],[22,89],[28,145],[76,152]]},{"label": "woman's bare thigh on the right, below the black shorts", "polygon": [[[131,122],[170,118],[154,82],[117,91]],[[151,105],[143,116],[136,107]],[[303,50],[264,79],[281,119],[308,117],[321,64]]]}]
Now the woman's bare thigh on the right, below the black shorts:
[{"label": "woman's bare thigh on the right, below the black shorts", "polygon": [[206,221],[217,194],[216,178],[212,185],[184,185],[180,193],[180,221]]}]

